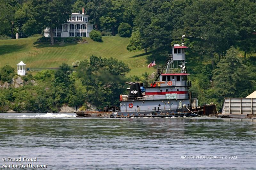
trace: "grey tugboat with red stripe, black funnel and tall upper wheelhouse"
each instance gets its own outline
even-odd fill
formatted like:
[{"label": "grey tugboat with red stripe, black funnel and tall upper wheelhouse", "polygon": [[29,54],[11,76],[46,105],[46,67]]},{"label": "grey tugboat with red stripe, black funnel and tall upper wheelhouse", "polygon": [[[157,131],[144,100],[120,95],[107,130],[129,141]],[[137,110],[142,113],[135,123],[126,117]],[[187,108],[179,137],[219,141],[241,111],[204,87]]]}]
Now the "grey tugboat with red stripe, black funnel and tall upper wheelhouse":
[{"label": "grey tugboat with red stripe, black funnel and tall upper wheelhouse", "polygon": [[216,114],[216,105],[198,106],[197,94],[190,93],[186,57],[181,45],[174,44],[164,66],[157,66],[152,82],[125,82],[128,95],[120,95],[120,106],[104,107],[103,111],[77,111],[76,117],[194,117]]}]

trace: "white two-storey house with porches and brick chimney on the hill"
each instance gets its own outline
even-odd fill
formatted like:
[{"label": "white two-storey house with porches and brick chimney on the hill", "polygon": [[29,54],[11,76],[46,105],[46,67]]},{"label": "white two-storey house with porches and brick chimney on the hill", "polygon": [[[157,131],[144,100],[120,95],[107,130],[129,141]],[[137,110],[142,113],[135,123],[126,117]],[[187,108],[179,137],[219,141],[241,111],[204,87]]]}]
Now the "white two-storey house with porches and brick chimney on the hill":
[{"label": "white two-storey house with porches and brick chimney on the hill", "polygon": [[[53,29],[54,37],[89,37],[93,24],[88,23],[88,15],[72,13],[67,23]],[[50,28],[44,29],[44,36],[50,37]]]}]

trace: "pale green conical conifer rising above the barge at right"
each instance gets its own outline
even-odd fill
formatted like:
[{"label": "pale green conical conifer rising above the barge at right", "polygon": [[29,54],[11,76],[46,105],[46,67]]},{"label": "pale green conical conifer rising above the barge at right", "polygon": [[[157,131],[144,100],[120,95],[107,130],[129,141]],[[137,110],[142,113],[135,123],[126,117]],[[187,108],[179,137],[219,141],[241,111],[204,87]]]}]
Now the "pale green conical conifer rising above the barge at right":
[{"label": "pale green conical conifer rising above the barge at right", "polygon": [[253,89],[248,68],[242,63],[238,51],[231,47],[213,71],[214,89],[223,97],[241,97],[242,93]]}]

